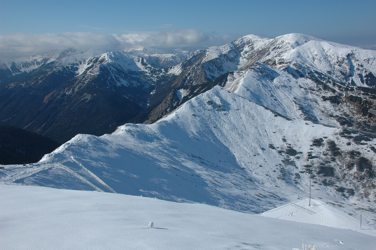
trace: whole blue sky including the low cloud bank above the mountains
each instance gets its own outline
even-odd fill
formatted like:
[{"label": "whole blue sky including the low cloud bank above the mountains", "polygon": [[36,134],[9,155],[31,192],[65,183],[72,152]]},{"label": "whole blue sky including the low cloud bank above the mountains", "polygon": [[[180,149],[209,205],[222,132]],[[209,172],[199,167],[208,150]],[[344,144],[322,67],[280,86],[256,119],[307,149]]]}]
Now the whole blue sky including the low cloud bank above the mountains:
[{"label": "whole blue sky including the low cloud bank above the mountains", "polygon": [[129,43],[199,48],[287,33],[376,49],[375,12],[373,0],[0,0],[0,50]]}]

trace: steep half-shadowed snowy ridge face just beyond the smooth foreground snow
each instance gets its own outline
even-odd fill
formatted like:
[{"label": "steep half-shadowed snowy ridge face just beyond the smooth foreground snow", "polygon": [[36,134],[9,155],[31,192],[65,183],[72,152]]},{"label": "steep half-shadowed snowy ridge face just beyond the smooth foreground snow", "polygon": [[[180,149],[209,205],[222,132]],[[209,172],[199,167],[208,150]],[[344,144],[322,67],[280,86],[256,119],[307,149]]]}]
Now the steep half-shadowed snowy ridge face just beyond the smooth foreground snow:
[{"label": "steep half-shadowed snowy ridge face just beyond the smooth foreground snow", "polygon": [[261,212],[307,193],[312,173],[315,196],[374,200],[375,137],[293,120],[217,86],[155,124],[77,135],[39,163],[47,174],[16,182],[91,190],[75,172],[105,191]]}]

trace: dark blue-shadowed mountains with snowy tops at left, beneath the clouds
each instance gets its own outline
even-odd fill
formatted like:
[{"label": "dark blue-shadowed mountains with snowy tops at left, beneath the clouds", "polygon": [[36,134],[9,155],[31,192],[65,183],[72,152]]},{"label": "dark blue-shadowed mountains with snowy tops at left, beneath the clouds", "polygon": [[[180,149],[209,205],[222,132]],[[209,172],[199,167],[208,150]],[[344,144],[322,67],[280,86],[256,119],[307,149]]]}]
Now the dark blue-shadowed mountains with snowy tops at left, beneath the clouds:
[{"label": "dark blue-shadowed mountains with snowy tops at left, beneath the clouds", "polygon": [[144,52],[69,50],[3,60],[0,123],[59,142],[77,133],[113,132],[149,106],[158,81],[165,79],[160,66],[188,56]]}]

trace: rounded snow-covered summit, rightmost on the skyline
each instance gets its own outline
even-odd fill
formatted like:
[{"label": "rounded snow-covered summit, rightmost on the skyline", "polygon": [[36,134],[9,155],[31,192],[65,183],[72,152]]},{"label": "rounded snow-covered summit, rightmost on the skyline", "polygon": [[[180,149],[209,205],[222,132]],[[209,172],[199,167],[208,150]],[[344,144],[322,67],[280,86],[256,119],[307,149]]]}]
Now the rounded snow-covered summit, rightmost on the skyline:
[{"label": "rounded snow-covered summit, rightmost on the skyline", "polygon": [[303,65],[306,68],[303,74],[319,78],[329,74],[332,79],[349,85],[375,86],[365,80],[369,73],[376,73],[374,50],[363,50],[302,34],[279,36],[275,40],[277,46],[291,46],[287,52],[273,55],[279,69],[290,64],[299,70]]}]

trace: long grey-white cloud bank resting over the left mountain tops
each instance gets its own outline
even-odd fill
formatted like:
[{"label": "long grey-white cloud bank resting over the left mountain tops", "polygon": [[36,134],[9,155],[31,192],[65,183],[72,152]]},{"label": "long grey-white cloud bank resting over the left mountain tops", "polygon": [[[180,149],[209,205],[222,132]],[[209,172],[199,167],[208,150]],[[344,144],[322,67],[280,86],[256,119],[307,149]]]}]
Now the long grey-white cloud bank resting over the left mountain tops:
[{"label": "long grey-white cloud bank resting over the left mountain tops", "polygon": [[195,29],[161,30],[159,32],[134,32],[127,34],[102,34],[89,32],[64,32],[0,35],[0,58],[31,56],[51,50],[68,48],[121,50],[130,47],[154,48],[205,48],[223,45],[237,36],[221,37]]}]

